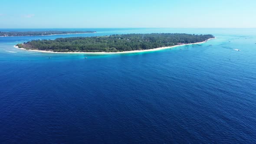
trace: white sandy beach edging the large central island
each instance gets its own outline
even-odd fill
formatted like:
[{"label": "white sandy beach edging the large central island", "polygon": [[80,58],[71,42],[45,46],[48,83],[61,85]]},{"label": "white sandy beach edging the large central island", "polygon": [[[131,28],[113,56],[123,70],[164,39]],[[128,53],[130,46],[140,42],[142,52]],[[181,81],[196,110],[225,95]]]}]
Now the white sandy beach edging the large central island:
[{"label": "white sandy beach edging the large central island", "polygon": [[[211,38],[211,39],[216,39],[215,38]],[[195,45],[195,44],[200,44],[200,43],[205,43],[208,40],[211,39],[207,39],[203,42],[198,42],[198,43],[187,43],[187,44],[183,44],[183,45],[176,45],[176,46],[166,46],[166,47],[160,47],[160,48],[156,48],[156,49],[144,49],[144,50],[133,50],[133,51],[125,51],[125,52],[52,52],[52,51],[45,51],[45,50],[32,50],[32,49],[24,49],[24,48],[19,48],[18,46],[14,46],[17,49],[23,49],[26,51],[32,51],[32,52],[46,52],[46,53],[69,53],[69,54],[116,54],[116,53],[136,53],[136,52],[151,52],[151,51],[158,51],[158,50],[162,50],[162,49],[171,49],[174,47],[178,47],[178,46],[185,46],[185,45]]]}]

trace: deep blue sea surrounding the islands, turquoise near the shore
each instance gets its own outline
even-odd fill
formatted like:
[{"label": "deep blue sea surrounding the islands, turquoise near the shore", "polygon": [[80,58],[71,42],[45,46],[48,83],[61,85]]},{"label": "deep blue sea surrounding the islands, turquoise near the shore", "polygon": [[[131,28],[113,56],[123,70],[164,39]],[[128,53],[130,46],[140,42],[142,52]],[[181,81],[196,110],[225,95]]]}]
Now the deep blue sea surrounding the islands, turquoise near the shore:
[{"label": "deep blue sea surrounding the islands, turquoise near the shore", "polygon": [[[97,33],[0,37],[0,143],[256,143],[256,29],[0,29],[28,30]],[[13,47],[160,32],[217,39],[109,55]]]}]

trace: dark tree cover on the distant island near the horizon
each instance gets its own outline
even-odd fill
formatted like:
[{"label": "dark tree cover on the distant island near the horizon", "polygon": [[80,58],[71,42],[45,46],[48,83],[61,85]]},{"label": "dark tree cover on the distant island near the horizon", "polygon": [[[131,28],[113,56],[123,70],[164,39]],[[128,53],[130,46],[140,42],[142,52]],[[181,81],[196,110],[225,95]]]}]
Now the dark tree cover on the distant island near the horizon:
[{"label": "dark tree cover on the distant island near the horizon", "polygon": [[95,33],[95,31],[27,31],[27,32],[0,32],[0,36],[45,36],[71,33]]}]

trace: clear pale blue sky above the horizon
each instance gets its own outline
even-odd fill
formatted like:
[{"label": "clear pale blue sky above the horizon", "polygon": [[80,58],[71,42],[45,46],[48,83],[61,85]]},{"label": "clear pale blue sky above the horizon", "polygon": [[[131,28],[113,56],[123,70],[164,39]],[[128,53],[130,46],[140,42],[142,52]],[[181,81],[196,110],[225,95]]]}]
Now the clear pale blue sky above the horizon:
[{"label": "clear pale blue sky above the horizon", "polygon": [[1,0],[0,28],[256,27],[256,0]]}]

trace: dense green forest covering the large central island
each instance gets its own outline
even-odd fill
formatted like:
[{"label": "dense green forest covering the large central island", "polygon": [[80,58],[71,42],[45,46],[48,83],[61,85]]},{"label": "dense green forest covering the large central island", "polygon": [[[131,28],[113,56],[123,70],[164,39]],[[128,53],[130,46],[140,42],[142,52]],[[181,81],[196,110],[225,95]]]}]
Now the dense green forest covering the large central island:
[{"label": "dense green forest covering the large central island", "polygon": [[33,40],[17,44],[19,48],[53,52],[123,52],[154,49],[186,43],[203,42],[213,35],[184,33],[124,34],[95,37],[70,37],[55,40]]}]

